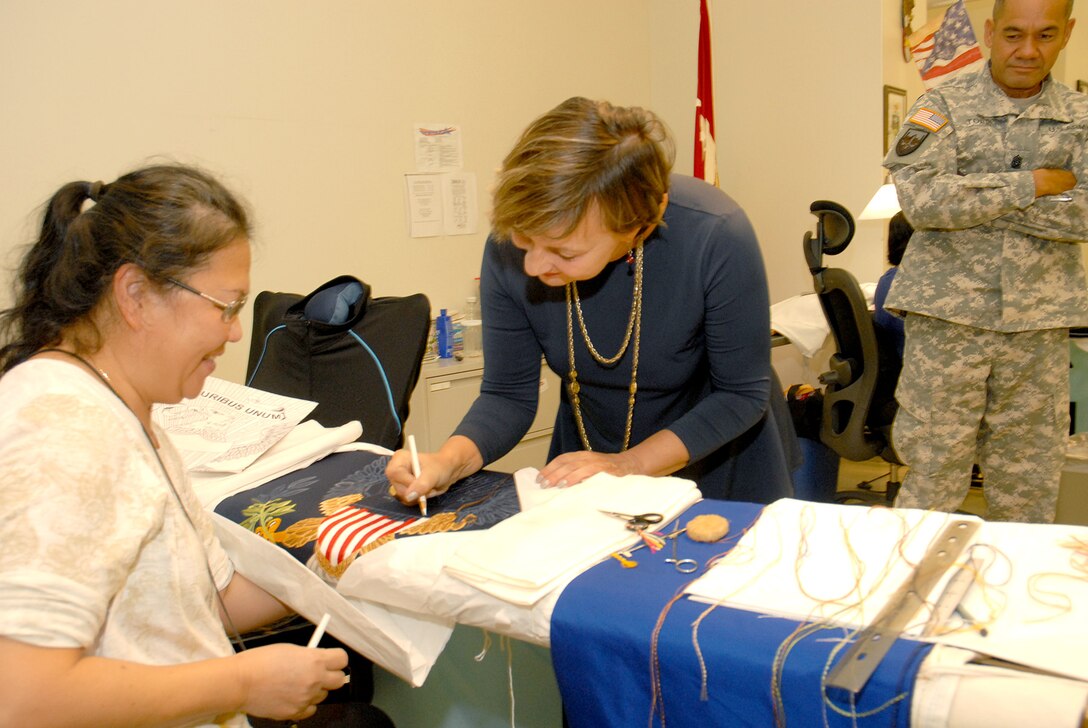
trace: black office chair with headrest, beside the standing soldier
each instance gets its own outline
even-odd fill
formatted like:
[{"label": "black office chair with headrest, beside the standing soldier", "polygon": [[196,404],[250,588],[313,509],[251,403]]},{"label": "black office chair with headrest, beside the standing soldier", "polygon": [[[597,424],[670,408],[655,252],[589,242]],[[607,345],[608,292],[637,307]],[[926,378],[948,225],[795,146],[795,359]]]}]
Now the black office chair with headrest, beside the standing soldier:
[{"label": "black office chair with headrest, beside the standing soldier", "polygon": [[848,460],[880,457],[890,465],[883,491],[874,490],[874,481],[865,481],[855,489],[840,491],[836,502],[891,505],[901,484],[902,461],[892,447],[890,433],[902,361],[894,344],[874,324],[857,279],[841,268],[824,266],[825,255],[839,255],[853,238],[853,217],[841,205],[828,200],[813,202],[809,210],[817,223],[815,235],[809,231],[804,236],[805,261],[834,340],[830,371],[819,375],[824,384],[819,437]]}]

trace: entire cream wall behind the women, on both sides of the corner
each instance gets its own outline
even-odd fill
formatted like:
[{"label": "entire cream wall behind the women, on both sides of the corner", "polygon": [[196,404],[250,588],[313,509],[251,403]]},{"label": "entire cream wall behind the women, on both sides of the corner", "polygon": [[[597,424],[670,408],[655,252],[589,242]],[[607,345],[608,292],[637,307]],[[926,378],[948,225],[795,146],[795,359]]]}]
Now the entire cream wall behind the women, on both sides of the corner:
[{"label": "entire cream wall behind the women, on both sides of the corner", "polygon": [[[15,262],[33,213],[61,184],[110,181],[165,156],[220,174],[251,203],[254,291],[305,293],[354,273],[375,295],[422,291],[435,307],[457,307],[479,270],[494,169],[564,98],[655,109],[678,136],[678,171],[690,172],[697,9],[4,0],[0,259]],[[854,0],[714,0],[722,187],[752,217],[772,299],[811,289],[800,249],[808,203],[856,212],[880,182],[880,11]],[[408,237],[401,175],[419,121],[462,126],[479,234]],[[881,231],[858,231],[842,262],[875,280]],[[219,375],[240,381],[247,348],[228,349]]]}]

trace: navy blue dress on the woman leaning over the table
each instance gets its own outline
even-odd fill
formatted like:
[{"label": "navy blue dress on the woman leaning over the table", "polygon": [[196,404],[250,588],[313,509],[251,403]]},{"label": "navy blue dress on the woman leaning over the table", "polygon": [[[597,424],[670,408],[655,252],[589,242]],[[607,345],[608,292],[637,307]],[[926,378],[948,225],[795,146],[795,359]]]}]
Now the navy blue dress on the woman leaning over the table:
[{"label": "navy blue dress on the woman leaning over the table", "polygon": [[[562,287],[524,273],[524,252],[489,238],[480,291],[484,374],[481,394],[455,434],[491,462],[528,431],[536,411],[540,359],[566,383],[567,306]],[[631,310],[632,266],[609,263],[578,284],[597,351],[622,343]],[[720,189],[673,175],[664,224],[644,246],[642,337],[631,446],[671,430],[690,454],[675,473],[707,497],[769,503],[790,495],[782,439],[768,409],[770,308],[763,258],[744,211]],[[595,451],[623,442],[633,347],[598,365],[574,323],[582,419]],[[775,393],[781,396],[780,392]],[[583,449],[564,388],[549,457]]]}]

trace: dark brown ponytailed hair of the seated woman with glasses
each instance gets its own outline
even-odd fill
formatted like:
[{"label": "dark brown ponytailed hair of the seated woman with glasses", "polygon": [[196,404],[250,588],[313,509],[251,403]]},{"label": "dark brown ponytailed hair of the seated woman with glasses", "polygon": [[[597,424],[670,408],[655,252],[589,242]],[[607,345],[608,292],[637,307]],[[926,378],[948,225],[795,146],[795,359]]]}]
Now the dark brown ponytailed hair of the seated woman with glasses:
[{"label": "dark brown ponytailed hair of the seated woman with glasses", "polygon": [[[94,205],[84,210],[88,200]],[[46,203],[41,233],[20,266],[14,306],[0,312],[0,371],[55,346],[77,324],[90,334],[81,348],[94,353],[100,332],[90,314],[124,263],[165,285],[248,235],[243,205],[191,166],[147,166],[108,185],[64,185]]]}]

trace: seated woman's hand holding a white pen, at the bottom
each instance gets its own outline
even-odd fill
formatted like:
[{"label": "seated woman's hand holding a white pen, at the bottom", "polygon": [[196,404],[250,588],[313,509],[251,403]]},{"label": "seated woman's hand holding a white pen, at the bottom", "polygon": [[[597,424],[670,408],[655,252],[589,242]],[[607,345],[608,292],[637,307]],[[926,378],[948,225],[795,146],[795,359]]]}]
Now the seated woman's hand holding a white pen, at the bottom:
[{"label": "seated woman's hand holding a white pen, at the bottom", "polygon": [[245,690],[242,712],[262,718],[308,718],[331,690],[347,682],[347,653],[339,647],[270,644],[245,650],[234,659]]}]

